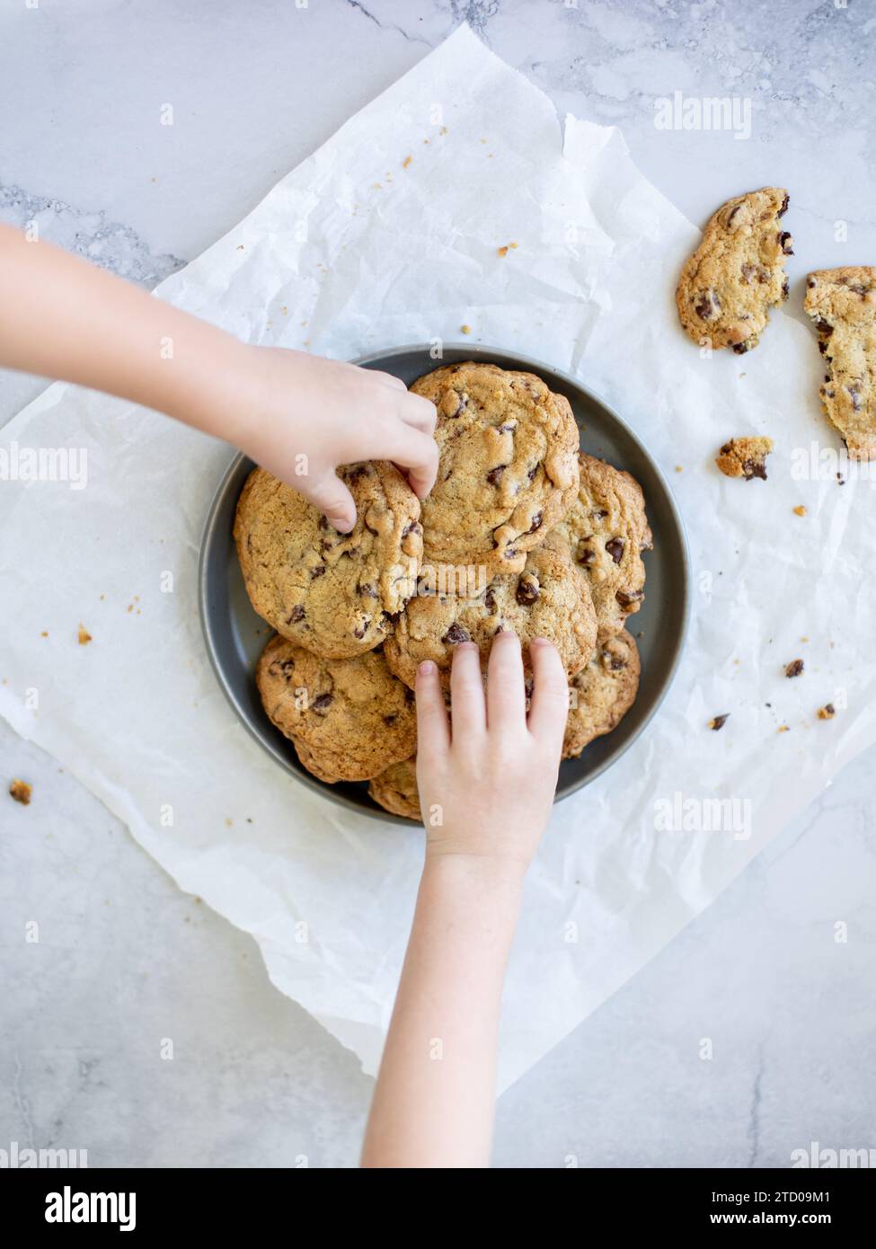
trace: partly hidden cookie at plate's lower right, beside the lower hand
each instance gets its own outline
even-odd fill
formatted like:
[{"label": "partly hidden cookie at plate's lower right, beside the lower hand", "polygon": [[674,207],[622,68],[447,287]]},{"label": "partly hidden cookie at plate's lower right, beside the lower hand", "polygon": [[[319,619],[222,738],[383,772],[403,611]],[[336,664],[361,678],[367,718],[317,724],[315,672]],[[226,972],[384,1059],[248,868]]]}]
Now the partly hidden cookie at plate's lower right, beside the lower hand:
[{"label": "partly hidden cookie at plate's lower right, beside the lower hand", "polygon": [[564,759],[579,756],[595,737],[617,727],[636,698],[640,672],[639,649],[626,629],[596,647],[587,667],[570,684]]}]

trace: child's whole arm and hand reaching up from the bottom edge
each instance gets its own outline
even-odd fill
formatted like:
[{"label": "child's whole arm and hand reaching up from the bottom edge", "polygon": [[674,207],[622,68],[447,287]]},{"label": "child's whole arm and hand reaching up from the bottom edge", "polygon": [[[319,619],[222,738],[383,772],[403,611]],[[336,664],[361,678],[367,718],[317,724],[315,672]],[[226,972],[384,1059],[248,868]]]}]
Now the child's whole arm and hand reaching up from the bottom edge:
[{"label": "child's whole arm and hand reaching up from the bottom edge", "polygon": [[[486,1167],[502,980],[526,868],[556,787],[569,693],[555,648],[497,633],[484,696],[477,648],[417,673],[426,862],[362,1149],[364,1167]],[[440,821],[435,822],[434,821]]]}]

